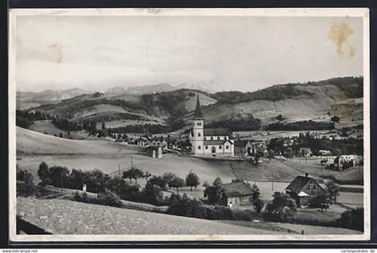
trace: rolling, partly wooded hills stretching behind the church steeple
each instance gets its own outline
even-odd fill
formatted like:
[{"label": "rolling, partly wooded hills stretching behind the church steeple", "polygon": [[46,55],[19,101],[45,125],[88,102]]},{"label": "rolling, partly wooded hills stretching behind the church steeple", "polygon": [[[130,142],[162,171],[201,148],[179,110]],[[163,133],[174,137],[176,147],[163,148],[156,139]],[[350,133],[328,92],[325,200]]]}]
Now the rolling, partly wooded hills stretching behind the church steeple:
[{"label": "rolling, partly wooded hills stretching behind the church steeple", "polygon": [[[257,118],[259,123],[249,130],[258,129],[278,122],[279,115],[284,118],[280,119],[283,124],[304,120],[330,122],[334,115],[340,117],[336,127],[363,124],[362,77],[287,83],[257,92],[208,93],[189,89],[166,91],[167,85],[169,84],[163,84],[164,88],[159,92],[154,89],[160,86],[154,85],[138,87],[142,92],[129,92],[118,87],[107,93],[80,94],[74,98],[40,105],[35,110],[76,122],[92,120],[106,122],[108,126],[114,127],[160,124],[177,130],[190,124],[198,94],[206,124],[214,123],[215,126],[222,122],[236,126],[242,120],[246,126],[251,126],[254,122],[250,118]],[[22,98],[25,96],[26,94],[21,95]]]}]

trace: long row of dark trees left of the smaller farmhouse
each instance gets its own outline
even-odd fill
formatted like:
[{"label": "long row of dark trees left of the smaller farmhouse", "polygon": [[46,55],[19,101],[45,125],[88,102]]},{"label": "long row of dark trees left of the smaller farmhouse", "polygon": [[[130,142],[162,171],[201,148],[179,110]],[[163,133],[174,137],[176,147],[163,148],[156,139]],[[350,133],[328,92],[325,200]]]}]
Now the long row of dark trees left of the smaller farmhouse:
[{"label": "long row of dark trees left of the smaller farmhouse", "polygon": [[[199,177],[193,171],[189,171],[185,180],[174,173],[153,176],[149,172],[132,167],[123,171],[121,177],[111,178],[101,170],[83,171],[68,170],[62,166],[48,167],[48,164],[44,161],[39,164],[38,175],[41,187],[51,185],[58,188],[82,189],[83,184],[85,184],[89,192],[103,193],[110,190],[122,199],[147,202],[154,205],[163,204],[162,190],[175,188],[179,193],[179,188],[187,186],[192,190],[192,188],[197,188],[200,183]],[[138,179],[146,180],[145,188],[141,191],[137,184]]]}]

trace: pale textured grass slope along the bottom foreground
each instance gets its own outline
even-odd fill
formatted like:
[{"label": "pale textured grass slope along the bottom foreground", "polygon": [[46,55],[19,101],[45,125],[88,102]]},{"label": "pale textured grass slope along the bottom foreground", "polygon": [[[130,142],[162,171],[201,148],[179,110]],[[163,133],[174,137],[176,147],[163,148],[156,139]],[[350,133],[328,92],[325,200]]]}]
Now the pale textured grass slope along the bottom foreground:
[{"label": "pale textured grass slope along the bottom foreground", "polygon": [[17,214],[58,234],[276,234],[196,218],[91,205],[69,200],[17,198]]}]

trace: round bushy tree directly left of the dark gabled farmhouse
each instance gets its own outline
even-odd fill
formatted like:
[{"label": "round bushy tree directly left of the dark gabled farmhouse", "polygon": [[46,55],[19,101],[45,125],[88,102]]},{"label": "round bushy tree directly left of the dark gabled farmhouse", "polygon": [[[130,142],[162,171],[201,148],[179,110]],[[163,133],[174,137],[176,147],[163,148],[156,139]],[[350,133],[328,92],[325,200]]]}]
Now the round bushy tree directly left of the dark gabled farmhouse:
[{"label": "round bushy tree directly left of the dark gabled farmhouse", "polygon": [[263,217],[276,222],[292,222],[296,213],[294,200],[285,193],[276,192],[274,199],[266,205]]}]

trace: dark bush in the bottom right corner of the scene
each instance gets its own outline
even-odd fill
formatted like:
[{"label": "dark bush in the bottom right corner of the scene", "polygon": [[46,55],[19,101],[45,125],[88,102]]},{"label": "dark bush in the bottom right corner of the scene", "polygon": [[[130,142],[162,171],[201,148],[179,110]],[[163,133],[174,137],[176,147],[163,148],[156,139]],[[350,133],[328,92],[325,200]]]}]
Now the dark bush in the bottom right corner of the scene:
[{"label": "dark bush in the bottom right corner of the scene", "polygon": [[364,208],[347,210],[342,213],[337,221],[339,227],[350,230],[364,231]]}]

